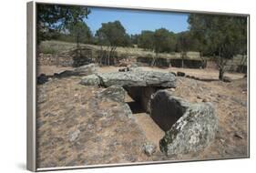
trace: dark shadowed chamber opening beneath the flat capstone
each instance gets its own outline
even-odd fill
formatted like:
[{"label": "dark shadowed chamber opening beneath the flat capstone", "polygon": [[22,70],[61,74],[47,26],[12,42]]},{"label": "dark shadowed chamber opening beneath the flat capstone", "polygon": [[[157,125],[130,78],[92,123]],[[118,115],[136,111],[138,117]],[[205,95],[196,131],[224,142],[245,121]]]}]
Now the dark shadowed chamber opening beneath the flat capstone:
[{"label": "dark shadowed chamber opening beneath the flat capstone", "polygon": [[132,113],[148,113],[164,131],[168,131],[186,112],[187,107],[181,105],[181,100],[170,97],[164,90],[157,92],[161,89],[159,87],[124,86],[124,88],[132,99],[127,102]]}]

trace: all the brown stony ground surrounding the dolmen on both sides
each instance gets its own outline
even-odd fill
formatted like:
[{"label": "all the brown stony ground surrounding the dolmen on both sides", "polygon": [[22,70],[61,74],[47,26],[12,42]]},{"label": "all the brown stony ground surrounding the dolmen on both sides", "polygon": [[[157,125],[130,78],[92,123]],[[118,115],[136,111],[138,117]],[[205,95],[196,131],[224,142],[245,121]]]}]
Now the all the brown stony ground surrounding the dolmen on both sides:
[{"label": "all the brown stony ground surrounding the dolmen on both sides", "polygon": [[[41,66],[39,72],[53,74],[63,69]],[[145,67],[145,70],[152,69]],[[180,68],[171,69],[178,70]],[[99,68],[99,71],[118,69]],[[216,70],[209,70],[209,73],[200,69],[181,71],[206,78],[218,76]],[[247,157],[247,80],[241,74],[228,76],[233,79],[230,83],[178,76],[177,87],[169,89],[172,95],[189,102],[211,102],[219,119],[218,131],[210,146],[198,155],[181,158],[168,158],[159,151],[164,131],[128,95],[126,102],[133,114],[126,103],[98,97],[105,88],[80,85],[81,76],[50,79],[37,86],[37,166]]]}]

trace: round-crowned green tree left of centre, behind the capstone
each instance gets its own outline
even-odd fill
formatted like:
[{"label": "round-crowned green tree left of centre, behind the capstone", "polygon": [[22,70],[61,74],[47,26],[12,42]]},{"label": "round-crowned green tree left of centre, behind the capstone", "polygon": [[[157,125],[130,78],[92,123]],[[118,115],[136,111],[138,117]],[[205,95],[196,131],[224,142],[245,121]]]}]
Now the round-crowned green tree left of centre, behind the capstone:
[{"label": "round-crowned green tree left of centre, behind the capstone", "polygon": [[[110,65],[110,61],[115,64],[115,58],[113,57],[117,46],[128,46],[129,37],[126,33],[124,26],[119,22],[108,22],[101,24],[101,27],[96,32],[97,43],[101,46],[107,46],[107,64]],[[104,56],[104,55],[102,55]]]}]

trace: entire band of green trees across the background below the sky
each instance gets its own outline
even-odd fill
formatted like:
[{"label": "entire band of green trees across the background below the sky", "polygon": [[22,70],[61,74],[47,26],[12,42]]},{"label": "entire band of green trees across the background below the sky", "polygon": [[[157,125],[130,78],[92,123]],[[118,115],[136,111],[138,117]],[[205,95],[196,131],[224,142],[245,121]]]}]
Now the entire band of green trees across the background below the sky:
[{"label": "entire band of green trees across the background below the sky", "polygon": [[[246,58],[247,54],[247,17],[243,16],[189,14],[189,30],[176,34],[159,28],[128,35],[117,20],[102,23],[93,36],[85,22],[90,14],[86,6],[38,4],[36,7],[38,44],[46,39],[76,42],[77,47],[79,43],[96,44],[101,46],[105,55],[103,60],[108,61],[108,65],[115,61],[110,58],[114,56],[117,46],[137,45],[154,51],[156,56],[152,65],[159,53],[176,51],[181,53],[183,59],[188,51],[197,51],[200,57],[211,56],[218,60],[222,80],[227,60],[238,54]],[[107,47],[105,52],[103,46]],[[241,62],[246,62],[246,59]]]}]

